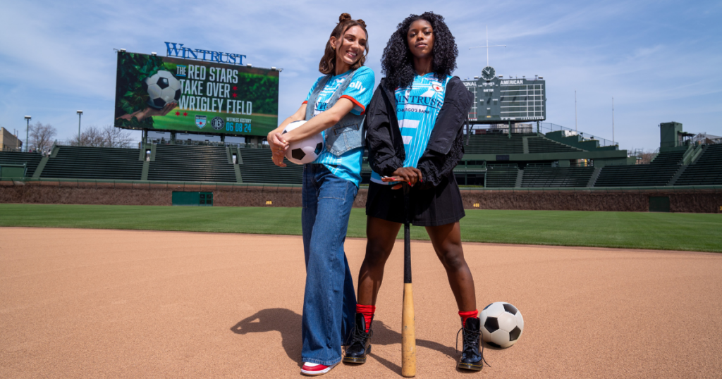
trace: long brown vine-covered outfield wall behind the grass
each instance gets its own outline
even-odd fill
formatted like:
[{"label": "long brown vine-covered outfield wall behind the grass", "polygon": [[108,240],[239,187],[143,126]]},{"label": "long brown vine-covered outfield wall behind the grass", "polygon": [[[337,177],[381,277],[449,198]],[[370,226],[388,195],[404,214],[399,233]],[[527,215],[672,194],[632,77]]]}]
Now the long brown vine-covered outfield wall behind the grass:
[{"label": "long brown vine-covered outfield wall behind the grass", "polygon": [[[268,206],[266,201],[271,201],[271,206],[301,206],[299,187],[56,182],[0,182],[0,203],[170,206],[173,191],[212,191],[215,206]],[[366,196],[367,190],[360,189],[354,206],[365,206]],[[461,191],[465,209],[648,212],[651,196],[669,196],[671,212],[722,213],[722,190]]]}]

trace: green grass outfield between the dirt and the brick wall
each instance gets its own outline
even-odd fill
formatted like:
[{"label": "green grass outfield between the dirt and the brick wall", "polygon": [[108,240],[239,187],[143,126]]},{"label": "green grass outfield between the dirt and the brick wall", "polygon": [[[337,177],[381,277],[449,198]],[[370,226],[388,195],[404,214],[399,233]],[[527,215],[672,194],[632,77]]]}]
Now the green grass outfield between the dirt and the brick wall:
[{"label": "green grass outfield between the dirt and the brick wall", "polygon": [[[300,216],[300,208],[0,204],[4,227],[300,235]],[[353,209],[349,237],[364,238],[365,227],[364,209]],[[466,242],[718,253],[721,230],[721,214],[466,210],[461,219]],[[422,227],[412,227],[412,238],[429,239]]]}]

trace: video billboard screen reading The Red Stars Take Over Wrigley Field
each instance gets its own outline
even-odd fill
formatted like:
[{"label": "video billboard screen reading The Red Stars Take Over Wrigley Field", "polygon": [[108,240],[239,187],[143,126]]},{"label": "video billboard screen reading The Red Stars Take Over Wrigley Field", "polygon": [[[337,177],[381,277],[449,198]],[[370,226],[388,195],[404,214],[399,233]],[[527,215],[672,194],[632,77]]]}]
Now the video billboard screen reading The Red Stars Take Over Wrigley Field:
[{"label": "video billboard screen reading The Red Stars Take Over Wrigley Field", "polygon": [[278,126],[279,71],[118,53],[115,126],[266,136]]}]

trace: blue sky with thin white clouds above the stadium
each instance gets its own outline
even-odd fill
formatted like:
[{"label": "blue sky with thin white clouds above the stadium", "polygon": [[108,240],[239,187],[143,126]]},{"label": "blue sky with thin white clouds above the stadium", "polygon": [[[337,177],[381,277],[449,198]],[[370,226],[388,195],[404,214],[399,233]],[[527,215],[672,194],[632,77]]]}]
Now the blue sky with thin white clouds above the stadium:
[{"label": "blue sky with thin white clouds above the stadium", "polygon": [[[360,6],[362,4],[362,6]],[[245,54],[253,66],[283,68],[279,121],[320,75],[318,61],[339,14],[367,23],[367,66],[381,77],[388,36],[409,14],[442,14],[456,37],[456,75],[547,81],[547,122],[655,149],[658,123],[722,135],[720,1],[4,1],[0,22],[0,126],[23,116],[51,123],[58,139],[113,123],[116,53],[165,54],[164,41]],[[138,132],[134,132],[138,133]]]}]

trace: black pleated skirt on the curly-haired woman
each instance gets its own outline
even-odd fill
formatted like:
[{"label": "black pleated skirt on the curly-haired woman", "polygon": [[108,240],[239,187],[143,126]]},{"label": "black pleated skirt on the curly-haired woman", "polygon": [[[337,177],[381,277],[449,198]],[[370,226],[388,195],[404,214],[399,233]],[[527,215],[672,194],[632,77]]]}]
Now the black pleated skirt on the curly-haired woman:
[{"label": "black pleated skirt on the curly-haired woman", "polygon": [[[370,183],[366,215],[404,223],[404,190],[392,190],[391,187]],[[413,225],[435,227],[457,222],[466,216],[453,173],[449,173],[436,187],[424,190],[417,188],[414,186],[409,191],[409,221]]]}]

